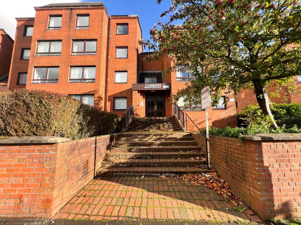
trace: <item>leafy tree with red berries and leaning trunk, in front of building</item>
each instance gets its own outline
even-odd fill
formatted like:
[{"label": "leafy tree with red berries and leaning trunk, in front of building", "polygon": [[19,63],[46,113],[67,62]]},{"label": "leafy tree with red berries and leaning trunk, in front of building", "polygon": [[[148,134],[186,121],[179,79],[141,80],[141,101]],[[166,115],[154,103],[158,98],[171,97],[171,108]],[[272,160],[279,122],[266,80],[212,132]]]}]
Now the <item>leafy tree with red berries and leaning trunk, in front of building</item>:
[{"label": "leafy tree with red berries and leaning trunk, in front of building", "polygon": [[[160,4],[161,0],[157,0]],[[301,70],[301,15],[297,0],[172,0],[171,7],[151,29],[151,39],[139,43],[153,49],[147,60],[169,55],[172,70],[195,75],[186,88],[172,95],[200,104],[200,90],[210,86],[213,105],[225,94],[253,87],[262,112],[270,116],[266,87],[287,86],[296,91],[294,76]],[[182,20],[182,26],[173,22]],[[200,70],[202,68],[202,70]],[[166,71],[166,72],[168,72]]]}]

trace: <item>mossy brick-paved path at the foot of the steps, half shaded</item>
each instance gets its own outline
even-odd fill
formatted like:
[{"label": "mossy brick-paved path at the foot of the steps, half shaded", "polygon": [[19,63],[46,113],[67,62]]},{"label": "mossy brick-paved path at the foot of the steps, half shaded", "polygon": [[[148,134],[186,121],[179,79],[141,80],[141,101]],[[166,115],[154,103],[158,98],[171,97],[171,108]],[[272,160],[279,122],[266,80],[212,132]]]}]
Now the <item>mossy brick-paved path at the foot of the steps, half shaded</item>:
[{"label": "mossy brick-paved path at the foot of the steps, half shaded", "polygon": [[54,218],[260,221],[250,210],[232,209],[216,193],[182,179],[115,176],[93,179]]}]

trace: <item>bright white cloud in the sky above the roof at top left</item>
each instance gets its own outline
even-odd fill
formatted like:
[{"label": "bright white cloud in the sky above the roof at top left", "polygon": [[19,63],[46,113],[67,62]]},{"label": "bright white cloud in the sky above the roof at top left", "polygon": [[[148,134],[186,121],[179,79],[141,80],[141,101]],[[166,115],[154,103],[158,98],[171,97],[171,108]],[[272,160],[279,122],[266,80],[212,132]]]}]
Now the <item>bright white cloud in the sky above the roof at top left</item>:
[{"label": "bright white cloud in the sky above the roof at top left", "polygon": [[14,39],[17,21],[16,17],[35,17],[36,11],[33,7],[50,3],[79,2],[80,0],[6,0],[1,1],[0,28]]}]

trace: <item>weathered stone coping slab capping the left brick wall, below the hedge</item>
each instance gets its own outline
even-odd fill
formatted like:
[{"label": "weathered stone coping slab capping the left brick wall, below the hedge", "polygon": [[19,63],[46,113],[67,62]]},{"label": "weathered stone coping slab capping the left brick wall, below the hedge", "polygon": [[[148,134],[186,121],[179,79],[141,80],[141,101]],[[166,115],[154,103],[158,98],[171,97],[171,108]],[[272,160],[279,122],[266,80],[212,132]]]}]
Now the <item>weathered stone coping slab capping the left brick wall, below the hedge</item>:
[{"label": "weathered stone coping slab capping the left brick wall, below the hedge", "polygon": [[54,136],[0,137],[0,144],[53,144],[70,141],[70,138]]}]

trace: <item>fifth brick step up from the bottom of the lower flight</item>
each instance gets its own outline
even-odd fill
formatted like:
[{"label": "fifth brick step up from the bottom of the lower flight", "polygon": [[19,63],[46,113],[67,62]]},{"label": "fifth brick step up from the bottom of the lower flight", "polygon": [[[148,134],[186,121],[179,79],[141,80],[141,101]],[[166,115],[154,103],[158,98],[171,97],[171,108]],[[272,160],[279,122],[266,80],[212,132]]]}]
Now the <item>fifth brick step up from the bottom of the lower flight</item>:
[{"label": "fifth brick step up from the bottom of the lower flight", "polygon": [[196,141],[116,141],[113,147],[121,146],[197,146]]}]

